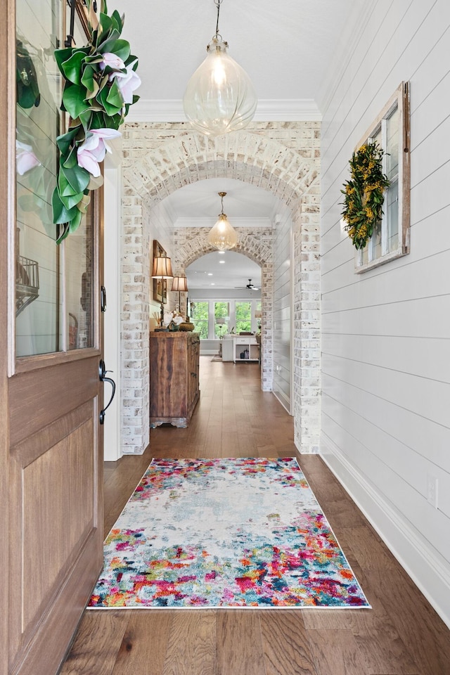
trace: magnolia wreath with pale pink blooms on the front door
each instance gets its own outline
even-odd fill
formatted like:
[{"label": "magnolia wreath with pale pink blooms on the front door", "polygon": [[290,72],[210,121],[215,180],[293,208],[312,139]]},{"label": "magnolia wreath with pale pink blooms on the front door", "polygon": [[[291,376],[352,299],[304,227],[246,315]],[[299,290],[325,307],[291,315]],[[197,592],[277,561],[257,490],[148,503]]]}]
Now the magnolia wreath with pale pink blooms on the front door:
[{"label": "magnolia wreath with pale pink blooms on the front door", "polygon": [[88,44],[56,49],[55,58],[65,79],[61,110],[70,115],[66,134],[58,136],[60,151],[58,182],[53,192],[53,222],[63,226],[58,243],[81,223],[89,205],[89,191],[101,186],[100,162],[110,151],[106,141],[120,136],[129,106],[138,101],[133,94],[141,80],[136,75],[138,60],[131,56],[129,42],[120,39],[124,17],[117,11],[108,16],[101,0],[98,25],[91,1]]}]

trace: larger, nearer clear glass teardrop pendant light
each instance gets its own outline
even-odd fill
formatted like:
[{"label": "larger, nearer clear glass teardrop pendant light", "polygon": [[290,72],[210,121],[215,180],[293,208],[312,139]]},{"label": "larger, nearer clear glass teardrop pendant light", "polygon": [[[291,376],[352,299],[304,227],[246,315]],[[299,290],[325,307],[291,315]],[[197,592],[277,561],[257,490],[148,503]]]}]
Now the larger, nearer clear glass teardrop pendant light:
[{"label": "larger, nearer clear glass teardrop pendant light", "polygon": [[193,127],[207,136],[243,129],[252,120],[257,96],[250,77],[227,53],[228,43],[219,34],[217,5],[216,34],[207,46],[207,57],[195,70],[184,92],[184,112]]}]

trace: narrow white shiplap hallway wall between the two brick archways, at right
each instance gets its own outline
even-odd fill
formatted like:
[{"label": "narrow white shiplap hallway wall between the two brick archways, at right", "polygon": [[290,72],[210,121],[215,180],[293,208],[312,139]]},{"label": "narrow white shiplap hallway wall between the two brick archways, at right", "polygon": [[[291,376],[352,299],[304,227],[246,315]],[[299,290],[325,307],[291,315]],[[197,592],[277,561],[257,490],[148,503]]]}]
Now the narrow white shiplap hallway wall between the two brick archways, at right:
[{"label": "narrow white shiplap hallway wall between the two brick archways, at right", "polygon": [[274,231],[274,394],[291,411],[291,229],[292,218],[280,208]]}]

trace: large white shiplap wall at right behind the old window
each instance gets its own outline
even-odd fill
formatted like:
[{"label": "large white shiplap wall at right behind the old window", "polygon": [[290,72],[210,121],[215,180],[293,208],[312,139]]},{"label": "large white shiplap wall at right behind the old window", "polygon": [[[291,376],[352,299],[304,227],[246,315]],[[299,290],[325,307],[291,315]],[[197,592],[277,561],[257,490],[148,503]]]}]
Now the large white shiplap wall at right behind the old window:
[{"label": "large white shiplap wall at right behind the old window", "polygon": [[[375,0],[337,60],[323,104],[321,453],[450,625],[449,53],[448,0]],[[411,254],[356,275],[340,188],[408,80]]]}]

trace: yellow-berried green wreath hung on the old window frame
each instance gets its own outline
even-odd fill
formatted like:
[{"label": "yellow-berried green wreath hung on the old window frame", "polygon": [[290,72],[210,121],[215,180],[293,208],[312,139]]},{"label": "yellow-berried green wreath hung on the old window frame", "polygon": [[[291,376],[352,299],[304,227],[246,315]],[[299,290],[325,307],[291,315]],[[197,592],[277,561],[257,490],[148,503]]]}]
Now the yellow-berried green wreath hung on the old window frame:
[{"label": "yellow-berried green wreath hung on the old window frame", "polygon": [[351,178],[341,190],[345,195],[342,218],[355,248],[364,248],[374,226],[383,216],[385,188],[390,181],[383,174],[383,149],[376,141],[361,146],[349,160]]}]

